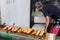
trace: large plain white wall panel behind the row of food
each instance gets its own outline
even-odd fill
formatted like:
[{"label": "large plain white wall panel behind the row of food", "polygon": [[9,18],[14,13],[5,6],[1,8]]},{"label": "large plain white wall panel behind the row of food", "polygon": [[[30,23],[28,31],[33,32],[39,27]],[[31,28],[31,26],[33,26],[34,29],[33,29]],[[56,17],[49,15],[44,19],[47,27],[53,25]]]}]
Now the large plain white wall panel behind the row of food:
[{"label": "large plain white wall panel behind the row of food", "polygon": [[30,0],[2,0],[2,23],[30,26]]}]

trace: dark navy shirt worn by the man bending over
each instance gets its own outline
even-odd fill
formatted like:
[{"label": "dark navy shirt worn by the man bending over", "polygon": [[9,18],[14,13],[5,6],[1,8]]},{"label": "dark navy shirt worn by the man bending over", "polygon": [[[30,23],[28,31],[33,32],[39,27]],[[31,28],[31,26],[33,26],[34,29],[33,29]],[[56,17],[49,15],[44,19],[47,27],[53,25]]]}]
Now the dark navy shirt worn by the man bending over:
[{"label": "dark navy shirt worn by the man bending over", "polygon": [[53,19],[60,19],[60,9],[54,5],[47,4],[42,10],[44,16],[49,16]]}]

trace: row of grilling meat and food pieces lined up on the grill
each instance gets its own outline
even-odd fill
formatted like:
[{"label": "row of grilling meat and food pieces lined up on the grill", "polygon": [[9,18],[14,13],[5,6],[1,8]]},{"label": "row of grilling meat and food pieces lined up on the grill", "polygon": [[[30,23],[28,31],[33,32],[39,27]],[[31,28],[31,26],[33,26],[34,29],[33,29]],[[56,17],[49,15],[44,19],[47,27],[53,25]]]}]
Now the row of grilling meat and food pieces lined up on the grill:
[{"label": "row of grilling meat and food pieces lined up on the grill", "polygon": [[22,28],[19,26],[14,25],[7,25],[3,28],[6,32],[13,32],[13,33],[24,33],[29,35],[36,35],[36,36],[44,36],[44,30],[32,29],[32,28]]}]

